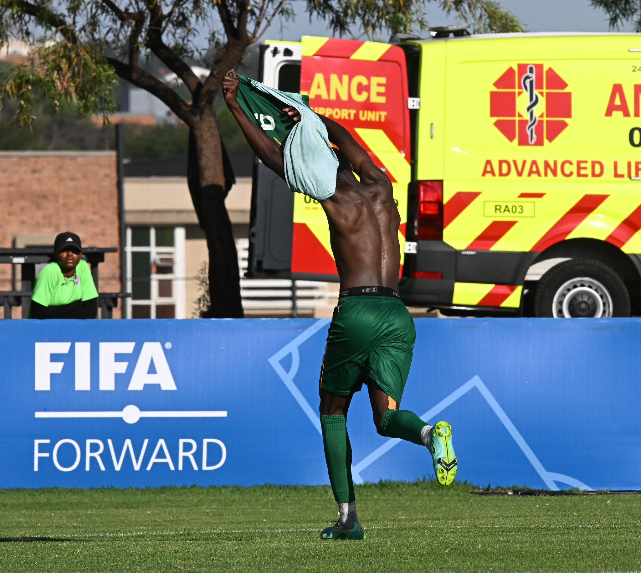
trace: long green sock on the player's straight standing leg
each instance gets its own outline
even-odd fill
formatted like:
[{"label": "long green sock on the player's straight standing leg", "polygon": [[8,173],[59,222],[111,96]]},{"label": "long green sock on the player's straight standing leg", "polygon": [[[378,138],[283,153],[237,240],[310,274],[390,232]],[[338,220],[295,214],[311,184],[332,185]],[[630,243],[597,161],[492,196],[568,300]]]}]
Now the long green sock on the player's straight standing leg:
[{"label": "long green sock on the player's straight standing leg", "polygon": [[337,503],[349,503],[354,497],[352,482],[352,447],[347,435],[347,416],[320,415],[322,442],[329,483]]}]

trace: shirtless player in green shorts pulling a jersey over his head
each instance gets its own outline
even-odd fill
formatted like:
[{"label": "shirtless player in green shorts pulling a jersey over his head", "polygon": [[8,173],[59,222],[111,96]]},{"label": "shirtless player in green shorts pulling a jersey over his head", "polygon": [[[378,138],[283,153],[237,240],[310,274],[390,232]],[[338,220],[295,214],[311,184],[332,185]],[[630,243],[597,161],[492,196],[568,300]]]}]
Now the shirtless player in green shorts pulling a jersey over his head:
[{"label": "shirtless player in green shorts pulling a jersey over his head", "polygon": [[[365,539],[356,513],[352,451],[346,425],[351,399],[363,384],[367,385],[374,424],[380,435],[427,447],[440,485],[451,484],[458,468],[452,429],[447,422],[430,426],[415,413],[399,410],[416,332],[412,316],[398,294],[401,217],[394,203],[392,183],[347,129],[304,105],[285,108],[292,121],[299,122],[288,140],[307,135],[303,141],[317,142],[315,147],[298,149],[296,142],[286,140],[281,149],[237,103],[239,81],[235,72],[231,74],[222,85],[224,99],[254,153],[285,179],[292,190],[319,199],[328,218],[331,249],[340,277],[340,298],[329,327],[320,372],[320,426],[339,517],[320,536]],[[286,105],[292,101],[292,94],[279,94],[272,88],[251,83],[259,91],[269,90],[265,97],[280,97]],[[250,94],[244,101],[252,97],[255,99],[256,94]],[[303,128],[303,122],[307,131],[299,129],[296,133],[296,129]],[[338,150],[320,141],[322,136]],[[304,163],[299,157],[302,154],[307,158]],[[335,175],[318,172],[319,162],[327,169],[329,154],[336,157]],[[301,173],[306,177],[304,181]],[[307,185],[304,190],[296,188],[299,181]],[[326,190],[328,186],[330,192]]]}]

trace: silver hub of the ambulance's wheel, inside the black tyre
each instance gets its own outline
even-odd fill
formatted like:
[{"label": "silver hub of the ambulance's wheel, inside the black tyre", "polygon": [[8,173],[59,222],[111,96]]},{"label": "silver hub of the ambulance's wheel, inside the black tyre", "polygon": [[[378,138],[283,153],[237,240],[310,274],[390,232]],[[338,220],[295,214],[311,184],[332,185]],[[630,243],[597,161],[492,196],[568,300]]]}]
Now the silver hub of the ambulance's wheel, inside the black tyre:
[{"label": "silver hub of the ambulance's wheel, inside the black tyre", "polygon": [[589,277],[579,277],[564,283],[554,294],[555,319],[612,317],[612,297],[599,283]]}]

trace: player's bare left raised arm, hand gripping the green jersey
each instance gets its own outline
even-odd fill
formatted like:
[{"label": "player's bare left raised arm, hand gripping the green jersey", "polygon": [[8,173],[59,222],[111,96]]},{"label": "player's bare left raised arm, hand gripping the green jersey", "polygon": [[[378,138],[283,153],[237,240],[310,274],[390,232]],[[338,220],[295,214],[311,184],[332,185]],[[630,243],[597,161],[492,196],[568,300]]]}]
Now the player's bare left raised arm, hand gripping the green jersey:
[{"label": "player's bare left raised arm, hand gripping the green jersey", "polygon": [[[231,72],[231,76],[229,73]],[[259,128],[254,122],[247,117],[247,114],[240,108],[238,102],[236,101],[236,96],[238,94],[238,76],[236,75],[235,70],[230,70],[225,75],[225,78],[222,80],[222,95],[225,99],[225,103],[231,112],[231,115],[234,116],[240,129],[247,139],[247,143],[258,158],[265,164],[269,169],[276,172],[277,175],[285,179],[285,170],[283,169],[283,156],[281,154],[281,149],[278,147],[278,144],[270,137],[268,137],[265,132]]]}]

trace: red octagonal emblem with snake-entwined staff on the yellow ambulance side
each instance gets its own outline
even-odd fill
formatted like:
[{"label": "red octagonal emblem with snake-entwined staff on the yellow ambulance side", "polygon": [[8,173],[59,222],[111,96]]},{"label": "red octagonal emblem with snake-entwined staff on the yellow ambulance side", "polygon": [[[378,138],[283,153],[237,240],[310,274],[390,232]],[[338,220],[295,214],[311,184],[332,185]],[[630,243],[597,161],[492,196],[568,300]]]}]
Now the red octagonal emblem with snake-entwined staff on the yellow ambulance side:
[{"label": "red octagonal emblem with snake-entwined staff on the yellow ambulance side", "polygon": [[510,142],[541,146],[569,126],[572,92],[552,67],[542,63],[510,66],[490,91],[490,117]]}]

